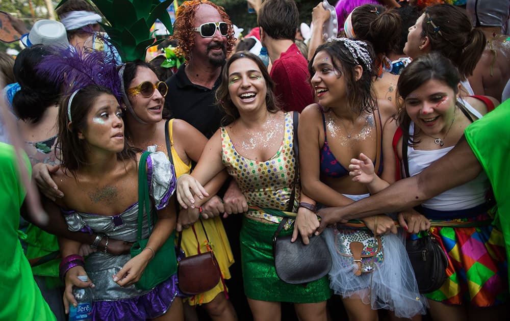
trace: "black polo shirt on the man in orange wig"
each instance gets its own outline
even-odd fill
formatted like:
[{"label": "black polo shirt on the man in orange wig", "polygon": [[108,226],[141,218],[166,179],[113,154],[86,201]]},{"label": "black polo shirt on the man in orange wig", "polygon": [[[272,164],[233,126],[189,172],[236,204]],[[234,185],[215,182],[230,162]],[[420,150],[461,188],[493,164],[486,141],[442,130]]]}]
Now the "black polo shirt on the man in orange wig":
[{"label": "black polo shirt on the man in orange wig", "polygon": [[224,112],[215,104],[215,93],[221,83],[221,74],[213,89],[193,84],[182,64],[177,72],[166,80],[168,94],[165,109],[172,118],[179,118],[198,129],[208,139],[221,125]]}]

